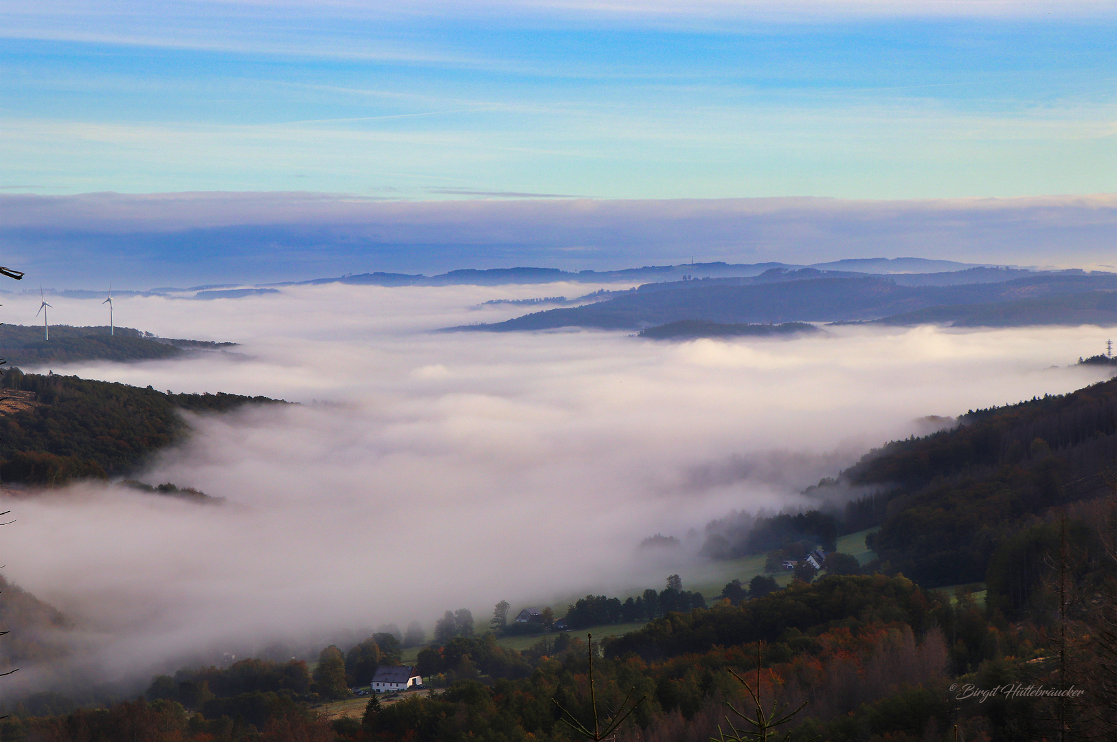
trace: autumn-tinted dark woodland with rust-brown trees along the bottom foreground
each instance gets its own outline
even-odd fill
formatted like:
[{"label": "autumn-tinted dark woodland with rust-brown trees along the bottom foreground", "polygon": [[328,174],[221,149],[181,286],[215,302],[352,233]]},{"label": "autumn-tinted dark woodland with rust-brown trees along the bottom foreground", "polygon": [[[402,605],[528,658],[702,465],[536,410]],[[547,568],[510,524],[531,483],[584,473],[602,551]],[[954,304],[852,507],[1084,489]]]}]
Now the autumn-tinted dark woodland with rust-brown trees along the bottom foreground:
[{"label": "autumn-tinted dark woodland with rust-brown trees along the bottom foreground", "polygon": [[[421,670],[442,675],[443,689],[370,701],[361,717],[319,716],[306,698],[331,675],[344,677],[351,662],[369,662],[365,650],[383,653],[375,640],[346,653],[327,647],[314,673],[305,663],[242,660],[156,678],[147,697],[105,710],[17,714],[0,721],[0,740],[570,742],[576,738],[558,723],[552,700],[589,717],[588,651],[600,707],[618,707],[630,691],[642,698],[620,742],[715,736],[726,702],[743,701],[731,669],[758,679],[766,701],[806,703],[789,727],[792,742],[948,742],[953,724],[963,739],[1031,740],[1056,717],[1050,704],[1029,700],[1023,715],[1022,703],[958,702],[948,688],[1022,678],[1021,668],[1050,654],[1038,637],[1031,620],[991,621],[965,594],[952,600],[881,574],[825,577],[738,606],[671,611],[592,647],[566,632],[525,651],[500,647],[491,632],[456,636],[420,655]],[[212,697],[198,694],[202,685]]]}]

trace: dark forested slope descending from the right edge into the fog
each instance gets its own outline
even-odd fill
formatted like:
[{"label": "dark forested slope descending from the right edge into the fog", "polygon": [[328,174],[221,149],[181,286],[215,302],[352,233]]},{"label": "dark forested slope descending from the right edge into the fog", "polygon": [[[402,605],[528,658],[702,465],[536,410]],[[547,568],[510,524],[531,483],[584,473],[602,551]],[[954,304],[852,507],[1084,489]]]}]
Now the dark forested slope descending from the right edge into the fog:
[{"label": "dark forested slope descending from the right edge into the fog", "polygon": [[881,524],[870,548],[922,584],[982,581],[1028,523],[1107,494],[1115,466],[1117,379],[971,410],[952,430],[872,451],[842,474],[878,491],[847,505],[847,527]]}]

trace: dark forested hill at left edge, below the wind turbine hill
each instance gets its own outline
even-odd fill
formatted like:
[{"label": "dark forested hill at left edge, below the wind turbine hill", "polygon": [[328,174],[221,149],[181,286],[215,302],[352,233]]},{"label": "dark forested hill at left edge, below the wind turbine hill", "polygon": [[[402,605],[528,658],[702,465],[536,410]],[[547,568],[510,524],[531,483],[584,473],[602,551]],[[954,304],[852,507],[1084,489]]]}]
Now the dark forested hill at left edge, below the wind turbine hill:
[{"label": "dark forested hill at left edge, below the wind turbine hill", "polygon": [[11,369],[0,379],[0,477],[64,484],[125,475],[189,435],[180,410],[222,412],[249,402],[285,403],[240,394],[171,394]]}]

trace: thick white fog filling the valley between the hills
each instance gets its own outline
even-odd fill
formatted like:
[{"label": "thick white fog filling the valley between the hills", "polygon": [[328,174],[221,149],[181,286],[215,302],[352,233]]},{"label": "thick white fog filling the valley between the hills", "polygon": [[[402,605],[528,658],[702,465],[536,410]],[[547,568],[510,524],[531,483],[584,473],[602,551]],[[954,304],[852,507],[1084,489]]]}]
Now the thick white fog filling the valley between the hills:
[{"label": "thick white fog filling the valley between the hills", "polygon": [[[235,301],[121,298],[120,324],[244,343],[206,356],[52,370],[302,402],[193,418],[141,476],[197,506],[84,485],[11,504],[6,573],[69,615],[108,675],[213,651],[427,622],[467,606],[661,587],[652,533],[779,508],[928,415],[1065,392],[1096,327],[829,329],[688,343],[623,333],[437,334],[510,316],[532,287],[327,285]],[[59,297],[58,321],[97,323]],[[6,318],[34,312],[23,297]],[[703,474],[705,473],[705,474]],[[357,637],[360,638],[360,637]]]}]

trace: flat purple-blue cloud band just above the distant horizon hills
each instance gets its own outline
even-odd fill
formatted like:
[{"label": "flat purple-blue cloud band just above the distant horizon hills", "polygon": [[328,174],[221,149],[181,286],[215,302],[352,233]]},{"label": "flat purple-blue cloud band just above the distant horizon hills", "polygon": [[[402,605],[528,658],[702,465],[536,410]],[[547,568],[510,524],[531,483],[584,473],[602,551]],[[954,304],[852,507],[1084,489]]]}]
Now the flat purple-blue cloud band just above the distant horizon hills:
[{"label": "flat purple-blue cloud band just above the distant horizon hills", "polygon": [[0,194],[6,260],[57,288],[373,270],[936,257],[1108,266],[1117,197],[376,201],[323,193]]}]

